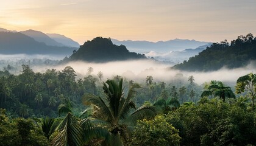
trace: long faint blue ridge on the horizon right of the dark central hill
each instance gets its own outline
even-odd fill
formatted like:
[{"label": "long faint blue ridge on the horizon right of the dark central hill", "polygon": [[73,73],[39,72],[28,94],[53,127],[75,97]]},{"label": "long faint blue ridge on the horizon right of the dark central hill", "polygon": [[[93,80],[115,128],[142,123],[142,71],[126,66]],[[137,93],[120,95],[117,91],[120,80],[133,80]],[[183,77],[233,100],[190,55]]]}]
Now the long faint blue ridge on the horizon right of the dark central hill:
[{"label": "long faint blue ridge on the horizon right of the dark central hill", "polygon": [[196,41],[196,40],[169,40],[169,41],[158,41],[156,43],[151,41],[118,41],[113,39],[114,44],[123,44],[132,52],[146,53],[155,51],[159,53],[166,53],[171,51],[182,51],[188,48],[195,49],[198,46],[208,44],[210,42]]}]

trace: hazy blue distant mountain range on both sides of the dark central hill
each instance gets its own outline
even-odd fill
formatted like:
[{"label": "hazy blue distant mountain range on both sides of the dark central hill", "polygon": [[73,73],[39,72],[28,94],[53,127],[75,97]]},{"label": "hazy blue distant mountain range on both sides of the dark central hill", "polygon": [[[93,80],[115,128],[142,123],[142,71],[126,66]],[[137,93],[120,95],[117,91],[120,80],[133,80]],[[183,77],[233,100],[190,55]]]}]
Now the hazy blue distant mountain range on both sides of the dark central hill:
[{"label": "hazy blue distant mountain range on both sides of the dark central hill", "polygon": [[[0,28],[0,32],[9,32],[8,37],[0,40],[0,54],[55,54],[66,55],[72,54],[80,45],[71,38],[55,33],[43,33],[37,30],[22,31],[23,35],[16,30],[7,30]],[[6,33],[7,34],[7,33]],[[0,33],[4,35],[4,33]],[[29,38],[27,38],[29,36]],[[1,36],[0,36],[1,37]],[[18,39],[18,40],[17,40]],[[26,40],[26,41],[25,41]],[[145,54],[146,57],[154,57],[159,61],[171,61],[180,63],[183,60],[197,55],[211,43],[195,40],[169,40],[158,41],[118,41],[112,39],[113,44],[127,47],[130,52]],[[61,49],[62,48],[62,49]],[[63,56],[64,57],[64,56]]]}]

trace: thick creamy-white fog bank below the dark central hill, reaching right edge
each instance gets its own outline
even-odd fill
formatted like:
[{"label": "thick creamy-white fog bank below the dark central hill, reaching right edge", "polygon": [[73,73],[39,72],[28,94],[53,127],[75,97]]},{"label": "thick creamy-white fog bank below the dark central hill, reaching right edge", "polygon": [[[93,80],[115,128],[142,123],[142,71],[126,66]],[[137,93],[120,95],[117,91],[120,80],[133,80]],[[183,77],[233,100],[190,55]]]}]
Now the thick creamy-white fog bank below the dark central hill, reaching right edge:
[{"label": "thick creamy-white fog bank below the dark central hill, reaching right edge", "polygon": [[88,68],[92,67],[93,72],[91,75],[97,77],[99,71],[103,72],[104,80],[113,78],[116,75],[121,75],[128,80],[135,80],[136,82],[144,83],[148,75],[152,75],[154,82],[172,82],[174,77],[182,73],[183,78],[187,80],[190,75],[194,75],[195,82],[201,85],[210,80],[220,80],[224,83],[235,85],[236,80],[250,72],[256,72],[255,63],[251,63],[244,68],[226,69],[222,68],[219,71],[213,72],[180,72],[171,70],[171,64],[163,64],[156,61],[138,60],[138,61],[115,61],[109,63],[85,63],[85,62],[71,62],[61,66],[44,66],[44,68],[34,67],[35,71],[44,72],[48,68],[57,69],[62,71],[65,66],[71,66],[76,71],[77,78],[84,78],[88,75]]}]

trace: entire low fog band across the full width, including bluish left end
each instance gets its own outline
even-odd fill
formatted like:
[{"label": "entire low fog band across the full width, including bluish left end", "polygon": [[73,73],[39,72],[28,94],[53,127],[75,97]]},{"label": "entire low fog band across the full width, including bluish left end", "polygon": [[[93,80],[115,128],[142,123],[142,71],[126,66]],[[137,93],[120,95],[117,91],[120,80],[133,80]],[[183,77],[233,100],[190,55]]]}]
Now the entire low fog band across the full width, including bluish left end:
[{"label": "entire low fog band across the full width, including bluish left end", "polygon": [[[54,65],[57,61],[52,61],[51,65],[46,65],[43,63],[38,63],[37,59],[41,60],[62,60],[63,57],[60,56],[48,56],[48,55],[0,55],[1,64],[0,68],[2,69],[7,64],[13,65],[18,68],[15,74],[21,72],[21,64],[29,64],[30,68],[34,72],[45,72],[46,69],[56,69],[57,71],[62,71],[65,66],[71,66],[74,71],[76,71],[77,78],[84,78],[88,75],[88,68],[92,67],[92,75],[97,76],[98,72],[103,72],[104,78],[113,78],[113,76],[121,75],[122,77],[127,78],[127,80],[135,80],[136,82],[145,82],[148,75],[152,75],[154,82],[172,82],[174,77],[177,74],[182,74],[183,78],[187,80],[190,75],[194,75],[194,82],[201,85],[204,82],[210,82],[210,80],[220,80],[228,85],[235,85],[237,78],[242,75],[249,74],[250,72],[256,72],[256,63],[251,63],[244,68],[237,69],[226,69],[222,68],[218,71],[213,72],[187,72],[187,71],[177,71],[170,69],[174,64],[163,63],[160,61],[154,60],[130,60],[130,61],[113,61],[108,63],[86,63],[82,61],[71,62],[68,64]],[[33,59],[37,58],[37,59]],[[20,59],[29,60],[21,61],[20,63],[15,63]],[[12,73],[12,72],[11,72]]]}]

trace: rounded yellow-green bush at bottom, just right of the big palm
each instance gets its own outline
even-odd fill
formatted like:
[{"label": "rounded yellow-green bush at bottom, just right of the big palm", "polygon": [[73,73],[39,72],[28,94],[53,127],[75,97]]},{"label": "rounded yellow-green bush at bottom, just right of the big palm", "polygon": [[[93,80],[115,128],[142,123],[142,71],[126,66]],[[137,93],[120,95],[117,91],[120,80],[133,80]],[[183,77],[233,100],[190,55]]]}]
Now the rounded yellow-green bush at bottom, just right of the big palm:
[{"label": "rounded yellow-green bush at bottom, just right of the big palm", "polygon": [[140,120],[129,145],[179,145],[179,130],[166,122],[166,117],[156,116],[152,120]]}]

